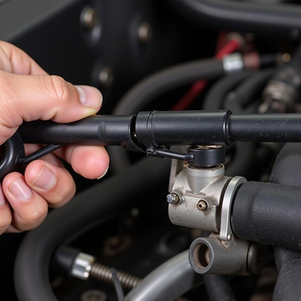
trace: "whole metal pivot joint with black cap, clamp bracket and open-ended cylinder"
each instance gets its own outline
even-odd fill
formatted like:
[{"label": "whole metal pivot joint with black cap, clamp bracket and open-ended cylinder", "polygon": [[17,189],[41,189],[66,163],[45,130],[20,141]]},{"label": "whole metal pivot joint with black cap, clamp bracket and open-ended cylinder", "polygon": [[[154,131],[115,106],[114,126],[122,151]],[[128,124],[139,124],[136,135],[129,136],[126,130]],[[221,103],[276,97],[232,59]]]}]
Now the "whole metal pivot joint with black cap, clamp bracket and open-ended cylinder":
[{"label": "whole metal pivot joint with black cap, clamp bracket and open-ended cylinder", "polygon": [[[175,225],[213,232],[193,241],[189,261],[199,274],[237,274],[259,272],[267,249],[238,239],[231,229],[231,207],[243,177],[224,175],[222,147],[194,147],[203,154],[198,164],[184,165],[172,160],[169,191],[169,219]],[[212,154],[214,154],[212,156]],[[188,161],[188,163],[190,163]],[[261,261],[258,261],[260,250]]]}]

